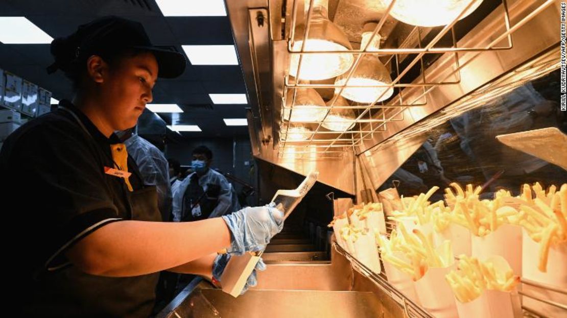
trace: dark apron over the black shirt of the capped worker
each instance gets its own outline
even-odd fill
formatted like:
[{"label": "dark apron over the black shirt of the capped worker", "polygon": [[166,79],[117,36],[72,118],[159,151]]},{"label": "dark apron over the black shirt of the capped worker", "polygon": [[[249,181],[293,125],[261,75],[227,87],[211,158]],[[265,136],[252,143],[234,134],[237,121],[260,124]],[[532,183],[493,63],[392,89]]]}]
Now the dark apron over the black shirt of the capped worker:
[{"label": "dark apron over the black shirt of the capped worker", "polygon": [[[61,109],[61,108],[60,108]],[[66,108],[84,132],[91,137],[99,151],[101,158],[101,173],[104,167],[104,158],[108,155],[100,150],[98,143],[84,128],[77,115]],[[132,173],[136,173],[140,180],[141,175],[137,167],[132,165]],[[106,175],[107,183],[116,182]],[[124,180],[121,180],[122,194],[126,211],[125,219],[136,221],[162,221],[158,209],[158,194],[155,186],[145,186],[142,189],[130,192]],[[112,189],[112,188],[109,188]],[[102,277],[83,273],[75,266],[47,272],[42,275],[39,292],[44,299],[39,301],[39,307],[49,308],[48,312],[33,311],[35,315],[57,317],[148,317],[154,307],[155,286],[159,273],[140,275],[136,277]]]}]

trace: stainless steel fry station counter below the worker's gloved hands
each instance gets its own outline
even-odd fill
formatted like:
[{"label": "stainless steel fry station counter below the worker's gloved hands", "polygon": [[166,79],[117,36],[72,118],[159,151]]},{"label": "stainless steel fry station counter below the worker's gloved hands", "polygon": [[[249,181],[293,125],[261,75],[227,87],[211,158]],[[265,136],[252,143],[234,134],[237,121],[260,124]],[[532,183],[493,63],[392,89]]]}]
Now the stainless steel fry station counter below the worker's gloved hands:
[{"label": "stainless steel fry station counter below the worker's gloved hands", "polygon": [[[277,253],[274,253],[277,254]],[[270,258],[270,253],[264,256]],[[258,286],[238,298],[194,281],[159,313],[188,317],[402,317],[403,308],[333,249],[331,261],[268,265]]]}]

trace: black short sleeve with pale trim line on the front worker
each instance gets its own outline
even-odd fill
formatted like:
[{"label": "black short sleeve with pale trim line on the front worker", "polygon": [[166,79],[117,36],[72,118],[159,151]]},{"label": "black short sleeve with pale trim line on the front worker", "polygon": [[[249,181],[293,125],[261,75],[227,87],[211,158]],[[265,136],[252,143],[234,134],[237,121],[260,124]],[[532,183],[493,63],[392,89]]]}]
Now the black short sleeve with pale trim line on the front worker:
[{"label": "black short sleeve with pale trim line on the front worker", "polygon": [[[9,193],[22,200],[19,213],[48,269],[67,262],[64,253],[73,243],[121,219],[99,152],[87,138],[71,123],[44,122],[9,138],[2,152]],[[25,190],[35,194],[32,200]]]}]

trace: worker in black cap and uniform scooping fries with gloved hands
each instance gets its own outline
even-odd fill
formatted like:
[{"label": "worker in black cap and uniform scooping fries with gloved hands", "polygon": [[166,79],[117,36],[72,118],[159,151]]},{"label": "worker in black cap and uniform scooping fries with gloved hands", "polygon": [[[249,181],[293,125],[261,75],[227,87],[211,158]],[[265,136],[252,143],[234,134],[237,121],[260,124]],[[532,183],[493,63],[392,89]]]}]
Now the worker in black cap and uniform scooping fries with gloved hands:
[{"label": "worker in black cap and uniform scooping fries with gloved hands", "polygon": [[48,71],[71,79],[74,98],[20,127],[0,153],[2,202],[17,204],[3,215],[4,233],[16,233],[4,252],[17,315],[147,317],[160,270],[218,277],[227,256],[215,251],[259,250],[281,231],[271,207],[160,222],[155,187],[113,132],[136,125],[158,77],[183,73],[181,54],[156,49],[141,24],[114,16],[50,49]]}]

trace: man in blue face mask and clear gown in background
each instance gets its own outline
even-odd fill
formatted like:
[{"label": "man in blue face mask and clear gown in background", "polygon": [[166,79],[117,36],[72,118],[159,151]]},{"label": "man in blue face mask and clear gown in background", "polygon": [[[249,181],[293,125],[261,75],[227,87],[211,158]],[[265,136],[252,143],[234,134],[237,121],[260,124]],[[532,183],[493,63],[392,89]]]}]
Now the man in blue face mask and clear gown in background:
[{"label": "man in blue face mask and clear gown in background", "polygon": [[[193,173],[187,176],[174,194],[174,221],[198,221],[219,217],[239,209],[233,206],[232,185],[210,169],[213,152],[206,146],[193,150]],[[236,203],[238,204],[238,203]]]}]

